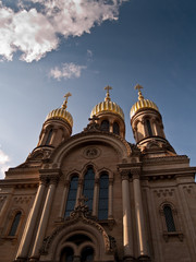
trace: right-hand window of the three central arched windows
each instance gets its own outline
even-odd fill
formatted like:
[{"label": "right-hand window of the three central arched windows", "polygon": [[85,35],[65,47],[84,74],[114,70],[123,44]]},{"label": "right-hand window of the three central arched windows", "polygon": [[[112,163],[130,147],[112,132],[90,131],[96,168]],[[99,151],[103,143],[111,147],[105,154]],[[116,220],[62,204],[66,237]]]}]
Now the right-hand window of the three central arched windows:
[{"label": "right-hand window of the three central arched windows", "polygon": [[109,178],[107,174],[101,175],[99,183],[99,205],[98,218],[108,219],[108,187]]}]

